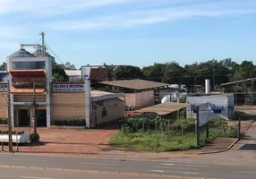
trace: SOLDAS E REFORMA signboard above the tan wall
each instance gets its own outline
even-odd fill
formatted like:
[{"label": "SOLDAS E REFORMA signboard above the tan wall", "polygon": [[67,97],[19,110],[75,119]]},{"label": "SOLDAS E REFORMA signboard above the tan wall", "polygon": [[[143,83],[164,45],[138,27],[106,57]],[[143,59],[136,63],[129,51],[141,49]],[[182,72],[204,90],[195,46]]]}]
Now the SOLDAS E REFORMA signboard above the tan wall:
[{"label": "SOLDAS E REFORMA signboard above the tan wall", "polygon": [[54,92],[83,92],[84,83],[53,83],[53,91]]}]

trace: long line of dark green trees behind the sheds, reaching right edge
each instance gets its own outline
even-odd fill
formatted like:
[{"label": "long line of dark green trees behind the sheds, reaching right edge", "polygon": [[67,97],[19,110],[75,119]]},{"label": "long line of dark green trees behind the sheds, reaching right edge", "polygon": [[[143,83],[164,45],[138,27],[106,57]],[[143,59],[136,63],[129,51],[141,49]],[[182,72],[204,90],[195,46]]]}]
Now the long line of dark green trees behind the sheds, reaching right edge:
[{"label": "long line of dark green trees behind the sheds, reaching right edge", "polygon": [[256,77],[256,65],[252,61],[244,60],[241,64],[237,64],[231,58],[219,61],[212,59],[185,66],[177,62],[155,63],[142,69],[132,65],[105,65],[109,69],[109,80],[144,79],[169,84],[183,83],[188,87],[204,85],[205,79],[209,79],[216,89],[222,83]]}]

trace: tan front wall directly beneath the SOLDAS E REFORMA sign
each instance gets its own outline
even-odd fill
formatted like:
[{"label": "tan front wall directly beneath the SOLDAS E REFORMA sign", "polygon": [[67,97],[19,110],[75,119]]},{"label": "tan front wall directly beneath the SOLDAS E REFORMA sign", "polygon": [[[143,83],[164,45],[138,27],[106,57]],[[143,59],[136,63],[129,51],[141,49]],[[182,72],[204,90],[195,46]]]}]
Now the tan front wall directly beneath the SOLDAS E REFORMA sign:
[{"label": "tan front wall directly beneath the SOLDAS E REFORMA sign", "polygon": [[85,119],[85,93],[53,93],[51,114],[52,120]]}]

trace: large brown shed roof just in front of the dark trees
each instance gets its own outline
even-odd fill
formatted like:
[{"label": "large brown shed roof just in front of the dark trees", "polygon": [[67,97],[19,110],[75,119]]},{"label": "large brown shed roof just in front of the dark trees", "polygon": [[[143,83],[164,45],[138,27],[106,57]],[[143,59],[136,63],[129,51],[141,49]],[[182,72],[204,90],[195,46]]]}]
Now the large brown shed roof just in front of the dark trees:
[{"label": "large brown shed roof just in front of the dark trees", "polygon": [[147,89],[155,89],[158,87],[168,86],[169,84],[155,81],[144,81],[140,79],[136,80],[125,80],[125,81],[104,81],[100,82],[101,84],[107,84],[116,87],[122,87],[125,89],[132,90],[147,90]]}]

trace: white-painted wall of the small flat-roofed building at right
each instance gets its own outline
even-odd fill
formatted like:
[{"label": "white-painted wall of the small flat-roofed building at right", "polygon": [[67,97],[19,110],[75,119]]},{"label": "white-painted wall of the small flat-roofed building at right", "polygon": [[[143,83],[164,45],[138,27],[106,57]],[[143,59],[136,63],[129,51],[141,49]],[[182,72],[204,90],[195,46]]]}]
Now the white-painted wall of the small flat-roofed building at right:
[{"label": "white-painted wall of the small flat-roofed building at right", "polygon": [[[223,107],[221,114],[214,113],[210,108],[208,113],[209,119],[232,119],[234,116],[234,110],[230,110],[230,107],[234,107],[234,95],[230,96],[201,96],[201,97],[187,97],[187,103],[189,104],[202,104],[210,103],[214,104],[216,107]],[[186,108],[187,118],[196,118],[196,113],[193,113],[191,107]]]}]

